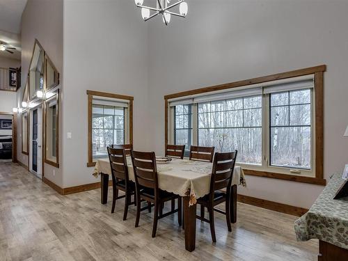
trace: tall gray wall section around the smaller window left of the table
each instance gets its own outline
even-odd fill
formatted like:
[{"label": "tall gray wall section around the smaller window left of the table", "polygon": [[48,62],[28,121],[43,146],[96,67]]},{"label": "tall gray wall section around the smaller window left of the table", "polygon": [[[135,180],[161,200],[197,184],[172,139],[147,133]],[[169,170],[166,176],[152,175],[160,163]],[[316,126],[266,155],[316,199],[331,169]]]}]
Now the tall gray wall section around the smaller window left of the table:
[{"label": "tall gray wall section around the smaller window left of the table", "polygon": [[134,96],[134,148],[150,148],[148,34],[134,1],[64,3],[63,187],[72,187],[100,180],[86,166],[86,90]]}]

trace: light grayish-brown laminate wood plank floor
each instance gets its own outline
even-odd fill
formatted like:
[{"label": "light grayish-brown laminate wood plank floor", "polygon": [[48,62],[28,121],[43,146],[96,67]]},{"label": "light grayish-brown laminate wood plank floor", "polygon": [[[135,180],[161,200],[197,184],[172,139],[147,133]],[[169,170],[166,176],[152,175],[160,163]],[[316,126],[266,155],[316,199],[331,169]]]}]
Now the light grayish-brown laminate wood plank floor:
[{"label": "light grayish-brown laminate wood plank floor", "polygon": [[152,239],[152,214],[134,228],[135,207],[122,221],[123,200],[111,214],[100,189],[61,196],[22,166],[0,163],[0,260],[317,260],[317,241],[296,242],[296,216],[238,203],[232,232],[216,213],[216,244],[197,221],[189,253],[176,216],[159,220]]}]

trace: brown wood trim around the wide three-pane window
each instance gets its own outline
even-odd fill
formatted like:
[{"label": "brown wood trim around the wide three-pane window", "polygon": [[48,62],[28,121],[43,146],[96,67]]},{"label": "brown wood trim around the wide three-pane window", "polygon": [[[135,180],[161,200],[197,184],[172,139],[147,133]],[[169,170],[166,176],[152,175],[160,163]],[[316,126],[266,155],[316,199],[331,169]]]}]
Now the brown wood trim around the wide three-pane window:
[{"label": "brown wood trim around the wide three-pane window", "polygon": [[[230,88],[248,86],[251,84],[262,84],[267,81],[275,81],[280,79],[288,79],[292,77],[300,77],[308,74],[314,74],[315,77],[315,177],[307,177],[300,175],[289,175],[283,173],[272,173],[267,171],[255,171],[244,168],[246,175],[257,177],[269,177],[278,180],[289,180],[294,182],[303,182],[308,184],[326,185],[324,179],[324,72],[326,65],[319,65],[300,70],[292,70],[290,72],[281,72],[271,74],[264,77],[257,77],[242,81],[234,81],[228,84],[220,84],[194,90],[186,90],[180,93],[173,93],[164,96],[164,143],[168,145],[168,100],[185,97],[189,95],[197,95],[201,93],[210,93],[216,90],[226,90]],[[166,148],[166,147],[165,147]]]}]

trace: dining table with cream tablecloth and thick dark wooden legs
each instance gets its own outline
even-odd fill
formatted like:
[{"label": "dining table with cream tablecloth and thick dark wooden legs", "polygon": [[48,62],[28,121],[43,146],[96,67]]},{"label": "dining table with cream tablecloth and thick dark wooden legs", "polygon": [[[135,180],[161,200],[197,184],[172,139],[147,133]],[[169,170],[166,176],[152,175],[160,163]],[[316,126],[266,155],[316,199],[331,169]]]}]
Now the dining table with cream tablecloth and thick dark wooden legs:
[{"label": "dining table with cream tablecloth and thick dark wooden legs", "polygon": [[[159,162],[160,163],[160,162]],[[212,163],[188,159],[172,159],[166,164],[157,164],[159,189],[182,196],[184,215],[184,238],[187,251],[196,247],[196,200],[209,193]],[[129,180],[135,181],[131,157],[127,157]],[[107,203],[109,175],[111,167],[109,159],[98,159],[93,172],[101,179],[101,203]],[[246,187],[242,167],[235,166],[232,175],[230,217],[231,223],[237,221],[237,186]]]}]

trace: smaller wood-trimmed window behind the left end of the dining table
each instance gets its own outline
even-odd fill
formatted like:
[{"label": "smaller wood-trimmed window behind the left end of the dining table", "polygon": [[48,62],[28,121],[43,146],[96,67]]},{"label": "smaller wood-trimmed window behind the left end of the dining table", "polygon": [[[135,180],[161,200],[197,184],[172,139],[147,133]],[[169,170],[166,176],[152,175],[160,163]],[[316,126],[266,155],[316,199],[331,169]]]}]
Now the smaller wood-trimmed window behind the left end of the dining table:
[{"label": "smaller wood-trimmed window behind the left end of the dining table", "polygon": [[88,163],[108,157],[107,147],[132,144],[133,97],[87,90]]}]

